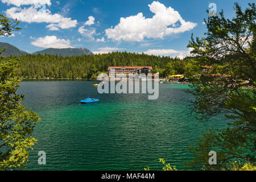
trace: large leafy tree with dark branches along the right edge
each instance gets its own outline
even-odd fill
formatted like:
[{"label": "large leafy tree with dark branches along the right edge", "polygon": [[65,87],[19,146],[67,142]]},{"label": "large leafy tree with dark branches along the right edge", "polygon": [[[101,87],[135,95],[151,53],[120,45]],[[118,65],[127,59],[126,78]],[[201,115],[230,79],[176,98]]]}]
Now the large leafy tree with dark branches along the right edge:
[{"label": "large leafy tree with dark branches along the right edge", "polygon": [[[191,146],[192,169],[255,169],[256,148],[256,10],[249,4],[245,11],[235,4],[236,17],[209,17],[207,38],[189,42],[192,53],[201,64],[213,66],[200,80],[195,80],[188,93],[195,96],[193,111],[203,121],[219,113],[230,119],[223,130],[210,129]],[[217,152],[217,165],[208,163],[209,151]],[[234,163],[236,162],[236,167]]]}]

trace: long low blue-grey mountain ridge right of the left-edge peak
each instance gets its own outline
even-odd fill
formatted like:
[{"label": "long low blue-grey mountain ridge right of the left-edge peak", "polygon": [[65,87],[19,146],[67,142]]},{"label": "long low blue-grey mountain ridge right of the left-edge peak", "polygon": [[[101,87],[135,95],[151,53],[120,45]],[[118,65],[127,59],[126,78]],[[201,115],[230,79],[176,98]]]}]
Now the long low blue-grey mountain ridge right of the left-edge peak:
[{"label": "long low blue-grey mountain ridge right of the left-edge peak", "polygon": [[92,51],[86,48],[48,48],[43,51],[38,51],[32,53],[34,55],[41,54],[49,54],[49,55],[59,55],[59,56],[82,56],[82,55],[94,55]]}]

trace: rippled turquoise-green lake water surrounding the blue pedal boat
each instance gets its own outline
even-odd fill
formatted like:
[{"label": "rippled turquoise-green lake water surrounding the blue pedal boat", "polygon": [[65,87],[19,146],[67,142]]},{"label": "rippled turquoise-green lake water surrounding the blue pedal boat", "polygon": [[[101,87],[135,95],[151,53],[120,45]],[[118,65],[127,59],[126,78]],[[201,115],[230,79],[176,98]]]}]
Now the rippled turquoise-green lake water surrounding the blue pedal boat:
[{"label": "rippled turquoise-green lake water surrounding the blue pedal boat", "polygon": [[[199,122],[190,114],[186,84],[160,84],[158,100],[147,94],[99,94],[97,82],[22,81],[19,93],[42,119],[28,170],[160,170],[159,158],[182,169],[188,146],[207,128],[226,126],[222,115]],[[100,102],[80,104],[94,96]],[[46,165],[38,152],[46,152]]]}]

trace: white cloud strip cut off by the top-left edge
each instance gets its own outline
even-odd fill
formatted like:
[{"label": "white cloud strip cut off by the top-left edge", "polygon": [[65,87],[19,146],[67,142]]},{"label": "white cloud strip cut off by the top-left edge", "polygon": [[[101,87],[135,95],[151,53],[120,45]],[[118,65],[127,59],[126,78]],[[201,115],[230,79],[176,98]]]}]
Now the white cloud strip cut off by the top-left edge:
[{"label": "white cloud strip cut off by the top-left edge", "polygon": [[51,0],[1,0],[2,3],[7,3],[7,5],[51,5]]}]

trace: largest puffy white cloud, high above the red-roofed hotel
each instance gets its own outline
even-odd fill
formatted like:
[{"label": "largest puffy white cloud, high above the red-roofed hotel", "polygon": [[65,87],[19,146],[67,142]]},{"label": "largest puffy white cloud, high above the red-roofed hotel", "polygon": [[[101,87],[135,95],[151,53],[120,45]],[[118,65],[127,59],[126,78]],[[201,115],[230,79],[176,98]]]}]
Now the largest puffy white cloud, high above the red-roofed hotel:
[{"label": "largest puffy white cloud, high above the red-roofed hotel", "polygon": [[105,30],[108,39],[141,42],[144,38],[163,38],[167,35],[185,32],[197,25],[193,22],[185,22],[178,11],[158,1],[148,6],[155,14],[152,18],[145,18],[142,13],[120,18],[117,26]]}]

